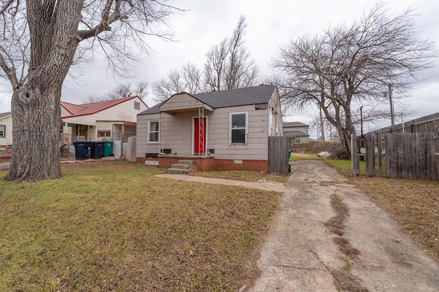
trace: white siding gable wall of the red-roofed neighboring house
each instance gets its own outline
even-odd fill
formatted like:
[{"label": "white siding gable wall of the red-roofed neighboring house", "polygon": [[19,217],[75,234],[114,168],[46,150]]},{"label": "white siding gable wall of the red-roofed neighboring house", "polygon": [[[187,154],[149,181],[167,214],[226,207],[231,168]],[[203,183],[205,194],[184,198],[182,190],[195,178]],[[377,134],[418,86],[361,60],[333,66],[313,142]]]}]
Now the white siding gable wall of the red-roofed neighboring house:
[{"label": "white siding gable wall of the red-roofed neighboring house", "polygon": [[[140,102],[140,110],[134,110],[134,101]],[[140,101],[139,98],[134,98],[95,114],[72,118],[67,117],[64,118],[63,121],[67,121],[68,123],[77,123],[80,125],[96,125],[96,121],[136,122],[137,114],[139,114],[139,112],[143,112],[144,110],[147,110],[147,107]]]}]

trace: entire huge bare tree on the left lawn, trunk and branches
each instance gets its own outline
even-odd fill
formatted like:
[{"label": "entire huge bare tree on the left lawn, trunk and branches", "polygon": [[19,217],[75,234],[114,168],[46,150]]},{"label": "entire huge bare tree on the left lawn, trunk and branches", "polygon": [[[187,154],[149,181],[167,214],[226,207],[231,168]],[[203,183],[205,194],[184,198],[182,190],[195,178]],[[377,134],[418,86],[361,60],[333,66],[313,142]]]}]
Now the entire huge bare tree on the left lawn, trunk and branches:
[{"label": "entire huge bare tree on the left lawn, trunk and branches", "polygon": [[12,87],[13,145],[6,180],[59,178],[60,96],[78,58],[104,53],[123,75],[147,36],[177,12],[163,1],[0,0],[0,68]]}]

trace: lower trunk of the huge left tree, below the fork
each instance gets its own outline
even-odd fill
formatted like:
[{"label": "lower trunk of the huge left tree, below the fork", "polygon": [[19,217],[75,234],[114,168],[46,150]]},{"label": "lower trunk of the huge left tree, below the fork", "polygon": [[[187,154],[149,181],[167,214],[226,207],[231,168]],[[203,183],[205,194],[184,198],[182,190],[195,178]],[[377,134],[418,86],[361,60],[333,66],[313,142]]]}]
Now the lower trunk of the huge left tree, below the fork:
[{"label": "lower trunk of the huge left tree, below the fork", "polygon": [[[48,89],[48,88],[47,88]],[[60,88],[41,90],[27,84],[12,95],[12,160],[6,180],[59,178]]]}]

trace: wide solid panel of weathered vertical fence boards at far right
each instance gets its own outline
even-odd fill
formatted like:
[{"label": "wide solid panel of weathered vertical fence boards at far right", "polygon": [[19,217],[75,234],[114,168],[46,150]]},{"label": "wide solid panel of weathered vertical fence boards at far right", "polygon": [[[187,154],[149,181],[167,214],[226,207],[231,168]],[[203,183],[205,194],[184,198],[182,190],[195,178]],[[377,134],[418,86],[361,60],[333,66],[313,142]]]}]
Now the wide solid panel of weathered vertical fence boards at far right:
[{"label": "wide solid panel of weathered vertical fence boards at far right", "polygon": [[385,134],[388,178],[438,180],[434,133]]}]

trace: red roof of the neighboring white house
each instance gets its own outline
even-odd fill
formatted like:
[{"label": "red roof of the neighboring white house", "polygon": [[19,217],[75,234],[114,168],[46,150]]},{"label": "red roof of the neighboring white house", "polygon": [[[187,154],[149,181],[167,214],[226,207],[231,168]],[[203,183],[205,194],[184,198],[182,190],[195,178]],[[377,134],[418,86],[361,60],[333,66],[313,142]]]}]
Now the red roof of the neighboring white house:
[{"label": "red roof of the neighboring white house", "polygon": [[[111,108],[112,106],[117,106],[118,104],[121,104],[125,101],[128,101],[130,99],[139,98],[137,95],[134,97],[123,97],[119,99],[112,99],[112,100],[106,100],[106,101],[99,101],[99,102],[93,102],[91,104],[70,104],[68,102],[61,101],[60,104],[63,108],[65,108],[68,112],[70,112],[70,115],[66,115],[62,118],[71,118],[71,117],[80,117],[80,116],[86,116],[88,114],[95,114],[96,112],[100,112],[102,110],[106,110],[107,108]],[[139,98],[143,104],[145,104],[145,101],[143,101],[141,98]],[[147,108],[150,108],[145,104]]]}]

